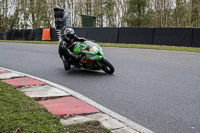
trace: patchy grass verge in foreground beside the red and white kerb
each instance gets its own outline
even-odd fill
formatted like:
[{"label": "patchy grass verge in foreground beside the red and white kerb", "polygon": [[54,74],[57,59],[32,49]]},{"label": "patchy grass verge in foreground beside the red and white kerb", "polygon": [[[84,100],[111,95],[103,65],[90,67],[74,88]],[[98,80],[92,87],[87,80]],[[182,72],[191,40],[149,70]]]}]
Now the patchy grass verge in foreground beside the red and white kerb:
[{"label": "patchy grass verge in foreground beside the red and white kerb", "polygon": [[0,132],[110,133],[98,121],[63,126],[46,108],[1,81]]}]

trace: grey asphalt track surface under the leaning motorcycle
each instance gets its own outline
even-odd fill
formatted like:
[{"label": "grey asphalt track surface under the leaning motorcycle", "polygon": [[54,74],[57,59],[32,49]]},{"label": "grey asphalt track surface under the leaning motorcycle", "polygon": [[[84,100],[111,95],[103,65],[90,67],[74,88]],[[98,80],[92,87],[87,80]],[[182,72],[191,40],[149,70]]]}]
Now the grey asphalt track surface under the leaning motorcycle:
[{"label": "grey asphalt track surface under the leaning motorcycle", "polygon": [[113,75],[64,71],[57,45],[0,43],[0,66],[71,88],[156,133],[200,133],[200,54],[103,48]]}]

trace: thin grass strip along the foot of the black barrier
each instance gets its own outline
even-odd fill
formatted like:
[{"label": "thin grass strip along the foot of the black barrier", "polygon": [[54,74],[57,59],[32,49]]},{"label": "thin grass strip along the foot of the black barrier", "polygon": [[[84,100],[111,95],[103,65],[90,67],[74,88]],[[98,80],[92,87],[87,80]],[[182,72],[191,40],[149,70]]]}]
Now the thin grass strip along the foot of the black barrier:
[{"label": "thin grass strip along the foot of the black barrier", "polygon": [[[58,41],[0,40],[0,42],[58,44]],[[116,43],[99,43],[99,44],[102,47],[138,48],[138,49],[154,49],[154,50],[185,51],[185,52],[197,52],[197,53],[200,53],[200,48],[193,48],[193,47],[176,47],[176,46],[146,45],[146,44],[116,44]]]}]

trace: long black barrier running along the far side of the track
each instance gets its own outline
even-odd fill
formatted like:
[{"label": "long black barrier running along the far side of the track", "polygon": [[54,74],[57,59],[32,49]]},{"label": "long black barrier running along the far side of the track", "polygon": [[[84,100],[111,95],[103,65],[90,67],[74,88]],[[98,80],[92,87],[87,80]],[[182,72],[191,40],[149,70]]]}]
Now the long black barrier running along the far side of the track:
[{"label": "long black barrier running along the far side of the track", "polygon": [[[73,28],[79,37],[96,42],[200,47],[200,28]],[[42,40],[43,29],[9,30],[7,40]],[[63,33],[63,30],[62,30]],[[52,41],[56,30],[50,29]],[[2,37],[1,37],[2,38]]]}]

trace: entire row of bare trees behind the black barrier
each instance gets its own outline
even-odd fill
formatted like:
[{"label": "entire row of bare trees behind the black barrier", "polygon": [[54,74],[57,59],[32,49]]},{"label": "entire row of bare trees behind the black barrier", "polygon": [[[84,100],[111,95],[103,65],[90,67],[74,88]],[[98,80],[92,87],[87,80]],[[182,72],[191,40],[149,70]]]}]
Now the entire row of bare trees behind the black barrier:
[{"label": "entire row of bare trees behind the black barrier", "polygon": [[0,32],[54,26],[55,5],[96,17],[97,27],[200,27],[200,0],[0,0]]}]

